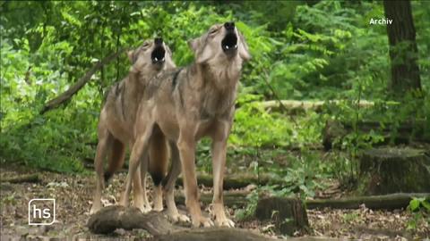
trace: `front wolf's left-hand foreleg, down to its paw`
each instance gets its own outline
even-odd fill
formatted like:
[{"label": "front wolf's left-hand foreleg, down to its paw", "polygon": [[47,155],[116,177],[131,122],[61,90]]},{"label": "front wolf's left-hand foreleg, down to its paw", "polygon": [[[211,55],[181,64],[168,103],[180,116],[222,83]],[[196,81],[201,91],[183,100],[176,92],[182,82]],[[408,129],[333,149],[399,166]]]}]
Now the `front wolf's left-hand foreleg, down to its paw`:
[{"label": "front wolf's left-hand foreleg, down to its paw", "polygon": [[[193,133],[190,129],[185,132]],[[185,187],[185,204],[190,212],[191,220],[194,228],[200,226],[211,227],[213,222],[211,219],[202,216],[202,210],[200,209],[197,187],[197,178],[195,176],[195,164],[194,164],[194,152],[195,152],[195,141],[193,137],[184,137],[181,132],[179,140],[177,141],[177,148],[179,149],[179,155],[182,164],[182,171],[184,176],[184,187]]]}]

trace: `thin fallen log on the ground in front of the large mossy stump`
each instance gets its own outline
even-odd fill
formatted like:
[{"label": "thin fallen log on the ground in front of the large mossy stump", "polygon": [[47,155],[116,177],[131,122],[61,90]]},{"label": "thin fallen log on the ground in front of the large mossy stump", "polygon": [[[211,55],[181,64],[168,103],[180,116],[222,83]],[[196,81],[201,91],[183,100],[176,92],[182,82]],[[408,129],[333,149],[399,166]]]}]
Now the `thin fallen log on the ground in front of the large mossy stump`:
[{"label": "thin fallen log on the ground in front of the large mossy stump", "polygon": [[394,210],[406,208],[414,197],[430,198],[430,193],[399,193],[391,195],[355,196],[341,199],[315,199],[306,200],[307,209],[357,209],[365,204],[366,208],[373,210]]}]

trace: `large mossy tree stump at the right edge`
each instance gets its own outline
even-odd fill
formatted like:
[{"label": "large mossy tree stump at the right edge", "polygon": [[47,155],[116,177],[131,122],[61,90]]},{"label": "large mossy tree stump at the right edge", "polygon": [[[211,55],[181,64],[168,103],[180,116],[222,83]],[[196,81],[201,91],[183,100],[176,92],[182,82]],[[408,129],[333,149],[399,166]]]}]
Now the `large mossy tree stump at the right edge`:
[{"label": "large mossy tree stump at the right edge", "polygon": [[360,158],[361,195],[430,192],[430,157],[424,150],[381,147]]}]

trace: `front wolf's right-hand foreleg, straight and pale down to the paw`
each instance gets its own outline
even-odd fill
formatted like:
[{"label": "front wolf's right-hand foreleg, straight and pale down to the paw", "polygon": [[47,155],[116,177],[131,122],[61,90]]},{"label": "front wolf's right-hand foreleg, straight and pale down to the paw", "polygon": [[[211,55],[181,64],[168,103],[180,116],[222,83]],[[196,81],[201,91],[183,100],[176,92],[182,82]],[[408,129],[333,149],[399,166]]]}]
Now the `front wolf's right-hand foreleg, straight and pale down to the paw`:
[{"label": "front wolf's right-hand foreleg, straight and pale down to the paw", "polygon": [[[227,131],[222,131],[226,133]],[[213,199],[212,215],[215,218],[216,226],[235,227],[235,223],[226,217],[224,211],[224,201],[222,195],[224,169],[226,166],[227,137],[222,135],[220,139],[212,139],[212,175],[213,175]]]}]

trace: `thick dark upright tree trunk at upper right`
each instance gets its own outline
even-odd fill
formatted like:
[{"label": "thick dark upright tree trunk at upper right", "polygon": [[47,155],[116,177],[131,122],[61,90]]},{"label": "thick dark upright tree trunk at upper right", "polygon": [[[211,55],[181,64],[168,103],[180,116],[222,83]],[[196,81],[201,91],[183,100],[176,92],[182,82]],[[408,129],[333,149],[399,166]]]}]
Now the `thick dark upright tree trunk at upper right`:
[{"label": "thick dark upright tree trunk at upper right", "polygon": [[417,42],[410,1],[383,1],[391,58],[391,90],[402,95],[405,90],[421,89],[417,65]]}]

